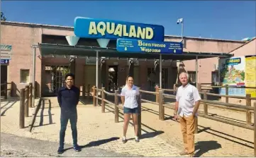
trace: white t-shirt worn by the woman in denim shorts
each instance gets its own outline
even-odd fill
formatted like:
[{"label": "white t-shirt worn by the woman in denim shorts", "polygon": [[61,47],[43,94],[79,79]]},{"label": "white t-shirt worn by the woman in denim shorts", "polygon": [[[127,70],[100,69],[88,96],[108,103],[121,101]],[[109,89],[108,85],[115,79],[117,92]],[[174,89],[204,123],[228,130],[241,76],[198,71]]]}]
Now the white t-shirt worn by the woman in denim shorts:
[{"label": "white t-shirt worn by the woman in denim shorts", "polygon": [[133,87],[129,90],[128,86],[122,88],[121,96],[125,97],[123,107],[127,107],[130,109],[138,107],[137,95],[140,95],[139,89],[137,86],[133,85]]}]

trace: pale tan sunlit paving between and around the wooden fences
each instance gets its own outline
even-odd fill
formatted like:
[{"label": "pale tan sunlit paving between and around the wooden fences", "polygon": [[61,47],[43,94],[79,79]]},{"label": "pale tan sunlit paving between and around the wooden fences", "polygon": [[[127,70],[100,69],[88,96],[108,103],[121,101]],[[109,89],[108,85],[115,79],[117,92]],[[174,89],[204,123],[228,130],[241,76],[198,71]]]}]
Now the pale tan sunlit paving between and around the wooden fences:
[{"label": "pale tan sunlit paving between and around the wooden fences", "polygon": [[[13,101],[14,102],[14,101]],[[1,102],[1,132],[26,138],[58,142],[60,130],[60,108],[56,98],[51,104],[45,101],[45,107],[40,109],[32,133],[28,128],[18,128],[19,102],[13,104]],[[5,107],[4,107],[5,106]],[[10,107],[10,108],[9,108]],[[6,110],[8,109],[8,110]],[[30,117],[26,118],[29,125]],[[182,134],[179,123],[172,120],[173,111],[165,109],[165,121],[158,119],[158,107],[153,104],[143,104],[142,122],[143,136],[139,143],[134,142],[133,126],[128,127],[126,144],[121,142],[123,119],[114,123],[113,107],[106,107],[106,113],[101,113],[101,107],[93,107],[89,103],[78,106],[79,145],[89,145],[89,149],[101,149],[116,153],[139,155],[144,157],[177,157],[182,149]],[[245,113],[209,108],[210,114],[219,117],[229,117],[245,121]],[[122,116],[121,116],[122,117]],[[199,134],[196,134],[196,156],[200,157],[252,157],[253,131],[230,126],[225,123],[199,118]],[[72,144],[70,126],[68,124],[66,139]],[[57,150],[52,146],[52,150]],[[246,152],[245,152],[246,151]],[[93,156],[93,155],[90,155]]]}]

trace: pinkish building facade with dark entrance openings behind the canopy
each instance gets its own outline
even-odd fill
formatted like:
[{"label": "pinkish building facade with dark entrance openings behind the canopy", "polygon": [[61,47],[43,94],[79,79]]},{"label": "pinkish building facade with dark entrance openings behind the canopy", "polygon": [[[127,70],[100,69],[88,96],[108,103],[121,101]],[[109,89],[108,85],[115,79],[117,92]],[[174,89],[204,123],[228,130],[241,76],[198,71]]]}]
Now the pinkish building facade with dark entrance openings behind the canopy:
[{"label": "pinkish building facade with dark entrance openings behind the canopy", "polygon": [[[40,25],[30,23],[1,22],[1,44],[12,46],[12,57],[6,68],[6,80],[13,82],[13,96],[19,95],[18,91],[32,82],[33,76],[33,50],[31,45],[38,43],[68,44],[65,36],[74,35],[72,27]],[[165,41],[180,41],[178,36],[165,36]],[[228,53],[245,44],[242,41],[223,39],[204,39],[196,37],[184,37],[184,51]],[[99,47],[96,39],[80,39],[78,45]],[[116,47],[116,41],[111,41],[109,47]],[[58,87],[63,85],[63,74],[69,71],[69,58],[64,56],[41,56],[40,50],[36,49],[36,94],[47,96],[55,94]],[[218,58],[199,59],[198,82],[212,83],[213,77],[218,74]],[[4,66],[4,65],[1,65]],[[191,75],[191,82],[196,81],[196,61],[163,62],[162,63],[162,87],[172,89],[177,83],[178,67],[182,66]],[[99,66],[101,68],[101,66]],[[92,59],[76,59],[75,84],[80,87],[96,84],[96,64]],[[154,61],[135,62],[134,80],[135,84],[143,90],[154,90],[155,80],[159,78],[154,73]],[[3,71],[4,72],[4,71]],[[101,78],[99,83],[106,80],[106,90],[113,90],[115,86],[125,85],[128,74],[128,61],[108,59],[106,60],[106,78]],[[1,74],[2,76],[2,74]]]}]

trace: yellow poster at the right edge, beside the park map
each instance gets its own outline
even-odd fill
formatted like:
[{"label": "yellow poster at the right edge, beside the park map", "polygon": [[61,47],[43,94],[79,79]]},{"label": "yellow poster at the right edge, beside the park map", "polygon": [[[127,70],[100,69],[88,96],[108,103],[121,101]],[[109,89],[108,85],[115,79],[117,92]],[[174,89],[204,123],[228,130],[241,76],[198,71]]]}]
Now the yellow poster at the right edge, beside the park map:
[{"label": "yellow poster at the right edge, beside the park map", "polygon": [[[245,56],[245,85],[256,87],[256,56]],[[246,94],[256,97],[255,89],[246,89]]]}]

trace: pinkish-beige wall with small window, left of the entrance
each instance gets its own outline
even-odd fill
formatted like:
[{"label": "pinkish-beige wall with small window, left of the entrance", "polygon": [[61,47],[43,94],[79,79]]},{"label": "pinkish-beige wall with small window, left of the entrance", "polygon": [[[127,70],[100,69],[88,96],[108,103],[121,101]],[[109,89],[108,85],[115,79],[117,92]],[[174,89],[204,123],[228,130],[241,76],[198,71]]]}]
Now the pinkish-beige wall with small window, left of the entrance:
[{"label": "pinkish-beige wall with small window, left of the entrance", "polygon": [[[1,44],[12,45],[12,59],[9,62],[9,76],[8,82],[13,81],[14,90],[13,95],[19,95],[19,90],[27,84],[20,83],[21,69],[30,70],[30,82],[33,77],[33,50],[31,45],[41,42],[41,32],[39,28],[22,27],[16,25],[1,24]],[[37,56],[40,51],[36,49],[36,70],[35,81],[41,83],[41,59]],[[38,95],[40,87],[37,87]]]}]

